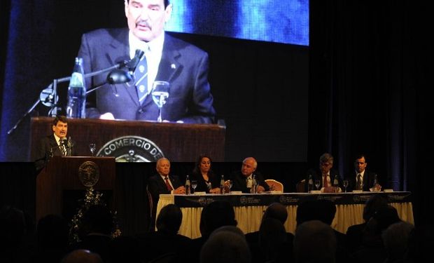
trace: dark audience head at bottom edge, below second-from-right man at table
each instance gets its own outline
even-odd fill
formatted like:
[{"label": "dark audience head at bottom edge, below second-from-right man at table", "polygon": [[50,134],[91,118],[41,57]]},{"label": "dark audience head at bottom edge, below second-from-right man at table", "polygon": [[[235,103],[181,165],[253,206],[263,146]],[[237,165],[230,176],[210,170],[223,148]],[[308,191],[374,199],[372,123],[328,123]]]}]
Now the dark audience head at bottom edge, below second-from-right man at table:
[{"label": "dark audience head at bottom edge, below second-from-right man at table", "polygon": [[335,263],[336,235],[330,227],[319,220],[297,224],[294,236],[296,263]]}]

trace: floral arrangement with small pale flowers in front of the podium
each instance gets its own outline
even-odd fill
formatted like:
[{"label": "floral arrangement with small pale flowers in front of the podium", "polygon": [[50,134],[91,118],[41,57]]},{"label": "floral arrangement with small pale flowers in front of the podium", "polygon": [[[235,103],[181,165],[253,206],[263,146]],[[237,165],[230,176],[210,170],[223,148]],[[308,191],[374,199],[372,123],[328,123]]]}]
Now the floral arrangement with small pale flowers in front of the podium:
[{"label": "floral arrangement with small pale flowers in front of the podium", "polygon": [[[78,208],[77,213],[73,215],[69,228],[69,239],[70,243],[77,243],[80,241],[80,228],[82,226],[83,215],[92,205],[106,205],[104,200],[102,199],[103,194],[99,193],[99,191],[95,191],[92,187],[88,187],[86,189],[85,198],[83,199],[83,204],[80,208]],[[114,230],[111,233],[113,238],[116,238],[122,234],[118,224],[117,211],[113,215],[113,225]]]}]

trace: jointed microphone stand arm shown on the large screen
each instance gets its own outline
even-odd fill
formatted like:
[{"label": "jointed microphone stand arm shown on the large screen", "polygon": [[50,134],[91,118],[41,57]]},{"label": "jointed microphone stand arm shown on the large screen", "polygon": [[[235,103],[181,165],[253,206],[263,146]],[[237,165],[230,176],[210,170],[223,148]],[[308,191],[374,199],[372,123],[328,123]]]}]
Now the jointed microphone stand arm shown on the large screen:
[{"label": "jointed microphone stand arm shown on the large screen", "polygon": [[[116,65],[108,67],[106,69],[101,69],[101,70],[98,70],[97,72],[90,72],[88,74],[85,74],[84,77],[90,78],[92,76],[97,76],[99,74],[103,74],[105,72],[112,71],[113,69],[120,69],[120,68],[127,66],[127,63],[128,62],[125,60],[123,62],[116,64]],[[52,83],[50,83],[50,85],[48,85],[47,88],[42,90],[41,94],[39,95],[39,99],[36,100],[36,102],[34,102],[34,104],[31,105],[31,107],[17,121],[17,123],[15,123],[15,126],[13,126],[12,128],[10,128],[10,130],[8,130],[8,135],[12,134],[13,131],[18,127],[18,125],[20,125],[20,123],[25,119],[25,117],[27,115],[29,115],[31,112],[33,112],[33,110],[36,108],[36,106],[38,106],[39,102],[42,102],[43,104],[46,103],[47,106],[51,106],[51,109],[50,109],[50,111],[48,111],[48,114],[51,114],[52,116],[56,116],[57,115],[57,102],[59,100],[59,97],[57,95],[57,83],[62,83],[62,82],[70,81],[70,80],[71,80],[71,76],[66,76],[66,77],[59,78],[59,79],[53,79]],[[99,85],[96,88],[92,88],[92,89],[88,90],[86,92],[86,94],[91,93],[92,91],[97,90],[98,88],[101,88],[106,83],[107,82],[104,82],[104,83],[102,83],[102,85]],[[45,96],[45,93],[48,94],[48,96],[46,96],[45,99],[42,100],[41,97],[43,97],[43,95]]]}]

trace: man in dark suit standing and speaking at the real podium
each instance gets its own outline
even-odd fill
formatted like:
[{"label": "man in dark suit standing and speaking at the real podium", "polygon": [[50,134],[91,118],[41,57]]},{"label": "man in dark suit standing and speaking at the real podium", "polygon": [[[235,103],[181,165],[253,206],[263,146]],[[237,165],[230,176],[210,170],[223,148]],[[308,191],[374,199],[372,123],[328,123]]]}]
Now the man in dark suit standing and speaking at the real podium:
[{"label": "man in dark suit standing and speaking at the real podium", "polygon": [[52,134],[42,137],[36,149],[35,166],[36,170],[41,170],[50,161],[52,156],[74,156],[75,144],[66,138],[68,133],[68,119],[66,116],[56,116],[52,121]]}]

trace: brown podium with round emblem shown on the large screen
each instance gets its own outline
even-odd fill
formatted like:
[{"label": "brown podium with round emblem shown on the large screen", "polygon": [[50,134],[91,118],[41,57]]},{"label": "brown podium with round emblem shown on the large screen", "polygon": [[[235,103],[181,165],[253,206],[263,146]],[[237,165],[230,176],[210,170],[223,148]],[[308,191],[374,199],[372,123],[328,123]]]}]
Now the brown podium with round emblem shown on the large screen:
[{"label": "brown podium with round emblem shown on the large screen", "polygon": [[[31,118],[31,160],[41,137],[52,133],[51,117]],[[90,155],[89,143],[97,144],[97,156],[116,161],[193,162],[200,154],[224,161],[225,126],[218,124],[156,123],[101,119],[69,119],[68,137],[76,142],[78,156]]]}]

